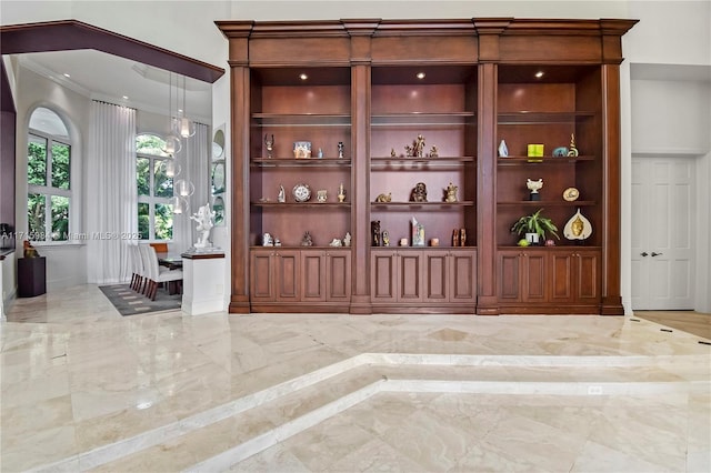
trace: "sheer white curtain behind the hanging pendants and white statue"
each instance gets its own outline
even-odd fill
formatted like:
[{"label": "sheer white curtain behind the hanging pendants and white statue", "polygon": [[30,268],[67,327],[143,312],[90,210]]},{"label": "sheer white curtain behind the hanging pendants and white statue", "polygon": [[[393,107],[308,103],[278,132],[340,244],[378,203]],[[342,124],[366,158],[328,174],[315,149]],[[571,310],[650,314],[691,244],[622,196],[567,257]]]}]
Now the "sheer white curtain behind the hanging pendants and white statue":
[{"label": "sheer white curtain behind the hanging pendants and white statue", "polygon": [[[173,244],[177,252],[189,250],[198,241],[196,221],[190,220],[190,215],[210,200],[210,150],[211,137],[210,127],[196,123],[196,134],[183,139],[182,149],[176,155],[183,170],[177,180],[184,179],[196,187],[194,193],[190,197],[187,213],[173,215]],[[171,251],[173,251],[171,249]]]}]

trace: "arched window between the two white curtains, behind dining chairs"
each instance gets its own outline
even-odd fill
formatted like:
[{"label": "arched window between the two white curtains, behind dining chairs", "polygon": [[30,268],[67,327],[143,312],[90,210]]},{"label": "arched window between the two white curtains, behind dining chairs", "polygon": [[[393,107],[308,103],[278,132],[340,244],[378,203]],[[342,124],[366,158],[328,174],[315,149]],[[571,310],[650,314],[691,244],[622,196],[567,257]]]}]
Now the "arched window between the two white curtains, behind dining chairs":
[{"label": "arched window between the two white curtains, behind dining chairs", "polygon": [[141,240],[172,240],[174,160],[164,153],[166,141],[154,134],[136,137],[138,231]]}]

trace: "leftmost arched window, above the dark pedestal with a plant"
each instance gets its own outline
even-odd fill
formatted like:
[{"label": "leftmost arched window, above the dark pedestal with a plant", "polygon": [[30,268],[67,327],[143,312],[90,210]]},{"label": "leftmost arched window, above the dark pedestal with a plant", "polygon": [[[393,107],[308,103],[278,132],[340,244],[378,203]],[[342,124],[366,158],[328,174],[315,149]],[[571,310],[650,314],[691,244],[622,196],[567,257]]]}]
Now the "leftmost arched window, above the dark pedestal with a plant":
[{"label": "leftmost arched window, above the dark pedestal with a plant", "polygon": [[27,157],[28,239],[70,240],[71,140],[52,110],[40,107],[32,112]]}]

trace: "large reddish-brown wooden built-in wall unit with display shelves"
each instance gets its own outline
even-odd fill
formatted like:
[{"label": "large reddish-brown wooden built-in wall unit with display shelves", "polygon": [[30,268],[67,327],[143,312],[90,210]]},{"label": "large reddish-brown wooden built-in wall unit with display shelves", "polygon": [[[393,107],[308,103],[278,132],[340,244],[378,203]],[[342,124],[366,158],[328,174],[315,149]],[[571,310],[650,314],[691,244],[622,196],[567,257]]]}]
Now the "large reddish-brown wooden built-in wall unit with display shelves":
[{"label": "large reddish-brown wooden built-in wall unit with display shelves", "polygon": [[[634,22],[217,22],[230,42],[230,311],[622,314],[619,64]],[[571,140],[574,155],[553,157]],[[540,200],[528,179],[543,180]],[[412,200],[418,183],[427,201]],[[518,248],[511,225],[538,209],[561,240]],[[584,241],[562,238],[577,211]]]}]

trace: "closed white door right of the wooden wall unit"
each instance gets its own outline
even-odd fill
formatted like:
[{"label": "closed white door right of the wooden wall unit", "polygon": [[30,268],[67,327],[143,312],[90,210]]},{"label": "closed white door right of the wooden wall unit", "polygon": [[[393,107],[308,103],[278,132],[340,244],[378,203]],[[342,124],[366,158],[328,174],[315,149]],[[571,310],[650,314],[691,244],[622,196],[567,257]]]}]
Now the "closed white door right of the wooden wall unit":
[{"label": "closed white door right of the wooden wall unit", "polygon": [[694,160],[632,159],[632,309],[693,309]]}]

